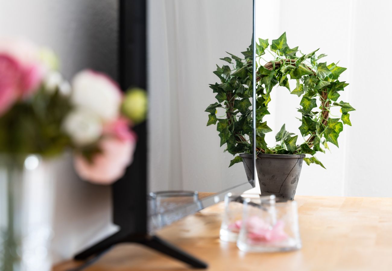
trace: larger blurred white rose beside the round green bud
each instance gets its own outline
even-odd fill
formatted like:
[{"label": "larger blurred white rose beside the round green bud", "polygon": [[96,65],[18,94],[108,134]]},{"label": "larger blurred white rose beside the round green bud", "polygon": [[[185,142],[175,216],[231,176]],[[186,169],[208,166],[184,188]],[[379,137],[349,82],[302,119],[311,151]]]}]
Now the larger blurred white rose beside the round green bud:
[{"label": "larger blurred white rose beside the round green bud", "polygon": [[100,116],[104,121],[118,117],[122,94],[106,75],[92,70],[78,72],[72,81],[71,101]]}]

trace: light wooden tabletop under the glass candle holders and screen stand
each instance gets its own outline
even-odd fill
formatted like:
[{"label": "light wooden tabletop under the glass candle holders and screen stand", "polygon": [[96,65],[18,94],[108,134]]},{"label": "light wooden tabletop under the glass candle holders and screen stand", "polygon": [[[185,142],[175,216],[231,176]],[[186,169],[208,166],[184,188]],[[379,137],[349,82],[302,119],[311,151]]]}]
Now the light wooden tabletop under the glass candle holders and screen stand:
[{"label": "light wooden tabletop under the glass candle holders and screen stand", "polygon": [[[223,205],[204,209],[158,235],[209,263],[209,270],[392,270],[392,199],[297,196],[303,248],[285,253],[243,253],[219,240]],[[54,267],[65,271],[77,266]],[[189,270],[142,246],[119,245],[86,271]]]}]

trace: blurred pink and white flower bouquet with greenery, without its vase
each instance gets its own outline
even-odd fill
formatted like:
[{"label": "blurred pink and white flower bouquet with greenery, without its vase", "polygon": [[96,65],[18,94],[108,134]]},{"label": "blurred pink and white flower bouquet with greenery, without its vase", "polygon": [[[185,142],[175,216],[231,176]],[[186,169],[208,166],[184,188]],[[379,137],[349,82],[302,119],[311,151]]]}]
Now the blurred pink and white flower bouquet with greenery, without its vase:
[{"label": "blurred pink and white flower bouquet with greenery, without its vase", "polygon": [[105,74],[82,70],[71,84],[48,49],[25,40],[0,42],[0,153],[53,157],[73,150],[82,179],[110,184],[131,163],[146,95],[123,94]]}]

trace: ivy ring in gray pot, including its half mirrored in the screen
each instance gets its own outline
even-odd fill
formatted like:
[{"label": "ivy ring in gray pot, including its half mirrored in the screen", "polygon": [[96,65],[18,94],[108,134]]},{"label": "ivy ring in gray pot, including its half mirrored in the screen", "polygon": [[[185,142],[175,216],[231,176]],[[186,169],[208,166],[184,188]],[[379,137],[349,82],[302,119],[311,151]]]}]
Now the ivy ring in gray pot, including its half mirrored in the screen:
[{"label": "ivy ring in gray pot, including its half mirrored in the screen", "polygon": [[[223,65],[214,71],[221,82],[210,85],[218,102],[209,105],[207,126],[217,123],[221,146],[225,151],[236,155],[230,166],[243,162],[248,180],[252,169],[252,50],[251,46],[242,52],[244,58],[229,53],[221,58],[229,65]],[[270,50],[269,50],[269,49]],[[350,125],[350,111],[355,110],[349,103],[339,101],[339,91],[348,83],[339,81],[339,76],[346,68],[337,63],[321,62],[325,54],[316,55],[315,50],[303,54],[298,47],[287,45],[286,33],[278,39],[269,41],[259,38],[256,44],[256,171],[260,182],[261,194],[275,194],[284,199],[294,199],[302,162],[308,165],[323,164],[314,156],[324,152],[328,143],[339,147],[338,137],[343,131],[343,124]],[[272,60],[265,60],[268,52]],[[297,56],[299,52],[300,56]],[[263,65],[259,64],[263,61]],[[289,79],[296,80],[296,87],[290,89]],[[288,132],[285,124],[276,134],[277,144],[267,146],[265,134],[272,129],[263,121],[271,100],[270,93],[274,86],[286,87],[291,94],[302,97],[298,112],[301,113],[299,132],[304,138],[298,143],[298,135]],[[331,107],[340,107],[341,115],[330,117]],[[223,109],[225,116],[217,117]],[[239,155],[237,155],[239,154]],[[305,155],[310,155],[306,157]]]}]

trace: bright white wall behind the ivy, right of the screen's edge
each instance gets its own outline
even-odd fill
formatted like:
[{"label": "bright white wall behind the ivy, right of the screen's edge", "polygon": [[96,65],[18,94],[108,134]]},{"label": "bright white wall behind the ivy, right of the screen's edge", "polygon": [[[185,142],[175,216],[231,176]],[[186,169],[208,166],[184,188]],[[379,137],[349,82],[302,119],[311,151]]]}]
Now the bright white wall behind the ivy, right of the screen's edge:
[{"label": "bright white wall behind the ivy, right of the screen's edge", "polygon": [[[320,48],[319,53],[328,54],[323,61],[340,60],[339,66],[347,67],[341,78],[350,85],[339,92],[339,101],[349,102],[357,109],[350,112],[353,126],[344,125],[339,136],[340,148],[329,144],[332,153],[316,154],[327,170],[304,163],[297,195],[392,196],[387,172],[392,150],[387,120],[392,98],[387,79],[387,48],[392,45],[388,29],[392,25],[388,13],[391,6],[382,0],[331,0],[328,4],[312,0],[295,4],[287,0],[256,0],[256,37],[271,41],[286,31],[290,47],[299,46],[302,52]],[[271,115],[266,118],[274,130],[267,141],[271,145],[283,123],[296,134],[300,126],[295,119],[300,117],[296,112],[300,98],[281,87],[273,92]],[[340,116],[339,112],[335,114]]]}]

